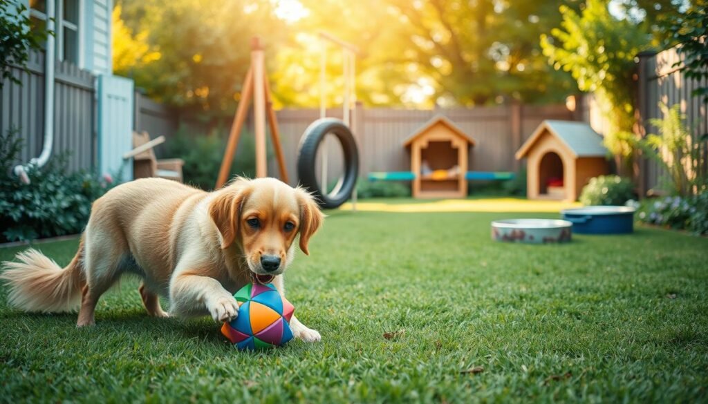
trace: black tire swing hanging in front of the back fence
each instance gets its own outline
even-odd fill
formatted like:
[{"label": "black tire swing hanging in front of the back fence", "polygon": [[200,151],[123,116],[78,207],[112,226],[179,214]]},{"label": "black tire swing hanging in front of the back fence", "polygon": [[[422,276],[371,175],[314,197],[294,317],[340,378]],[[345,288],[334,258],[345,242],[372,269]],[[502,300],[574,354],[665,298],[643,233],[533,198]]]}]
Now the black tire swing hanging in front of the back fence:
[{"label": "black tire swing hanging in front of the back fence", "polygon": [[[317,183],[315,162],[317,149],[327,134],[333,134],[339,140],[344,154],[344,177],[338,187],[327,194],[326,187]],[[334,118],[322,118],[312,122],[305,129],[300,139],[297,157],[297,175],[300,185],[307,187],[317,198],[323,209],[335,209],[346,202],[352,195],[359,173],[359,151],[356,141],[344,122]]]}]

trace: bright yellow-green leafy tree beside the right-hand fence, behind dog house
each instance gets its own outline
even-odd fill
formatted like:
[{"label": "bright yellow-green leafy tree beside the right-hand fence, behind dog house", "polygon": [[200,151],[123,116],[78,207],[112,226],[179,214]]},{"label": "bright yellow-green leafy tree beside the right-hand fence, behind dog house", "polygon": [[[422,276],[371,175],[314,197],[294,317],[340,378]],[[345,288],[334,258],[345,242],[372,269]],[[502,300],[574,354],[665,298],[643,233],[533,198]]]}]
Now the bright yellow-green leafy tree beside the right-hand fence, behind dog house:
[{"label": "bright yellow-green leafy tree beside the right-hand fence, behind dog house", "polygon": [[610,123],[605,146],[617,156],[620,171],[631,172],[636,150],[634,57],[650,46],[651,37],[636,23],[612,16],[602,0],[588,0],[580,14],[566,6],[560,11],[561,28],[541,37],[543,52],[555,69],[571,72],[578,88],[595,93]]}]

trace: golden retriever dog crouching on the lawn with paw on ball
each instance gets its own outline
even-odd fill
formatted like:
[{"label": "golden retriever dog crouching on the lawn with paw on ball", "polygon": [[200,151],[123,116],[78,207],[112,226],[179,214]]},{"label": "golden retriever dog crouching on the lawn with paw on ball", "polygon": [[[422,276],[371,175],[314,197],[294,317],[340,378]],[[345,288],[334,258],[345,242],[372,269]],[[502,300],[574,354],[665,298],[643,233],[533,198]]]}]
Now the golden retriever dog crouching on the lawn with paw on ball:
[{"label": "golden retriever dog crouching on the lawn with paw on ball", "polygon": [[[4,262],[0,275],[9,301],[25,311],[79,308],[76,325],[93,325],[101,294],[124,274],[142,278],[142,302],[150,316],[210,315],[217,322],[239,315],[234,292],[249,282],[273,282],[285,296],[282,274],[299,248],[319,229],[324,214],[302,188],[274,178],[237,178],[215,192],[170,180],[125,183],[93,202],[79,251],[63,269],[37,250]],[[290,321],[295,337],[320,335]]]}]

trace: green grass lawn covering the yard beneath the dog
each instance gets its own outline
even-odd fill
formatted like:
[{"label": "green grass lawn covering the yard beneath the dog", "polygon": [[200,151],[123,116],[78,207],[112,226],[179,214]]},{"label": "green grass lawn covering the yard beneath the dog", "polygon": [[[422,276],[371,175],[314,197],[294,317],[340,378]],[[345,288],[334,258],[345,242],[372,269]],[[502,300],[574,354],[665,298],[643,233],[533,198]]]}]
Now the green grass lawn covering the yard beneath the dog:
[{"label": "green grass lawn covering the yard beneath the dog", "polygon": [[[8,308],[0,287],[0,401],[708,400],[708,239],[490,240],[492,219],[529,216],[558,217],[330,212],[286,282],[322,342],[267,352],[235,350],[210,318],[147,317],[132,279],[81,329]],[[39,248],[65,265],[76,245]]]}]

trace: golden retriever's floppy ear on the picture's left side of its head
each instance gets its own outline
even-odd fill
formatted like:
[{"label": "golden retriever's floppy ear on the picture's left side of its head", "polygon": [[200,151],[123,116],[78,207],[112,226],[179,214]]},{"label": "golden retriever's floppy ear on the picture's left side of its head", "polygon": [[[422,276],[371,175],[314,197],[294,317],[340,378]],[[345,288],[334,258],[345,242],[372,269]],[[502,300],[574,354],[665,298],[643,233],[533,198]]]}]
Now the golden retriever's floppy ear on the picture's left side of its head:
[{"label": "golden retriever's floppy ear on the picture's left side of its head", "polygon": [[237,180],[229,185],[209,205],[209,216],[219,229],[221,248],[229,248],[239,234],[241,207],[251,193],[246,180]]}]

